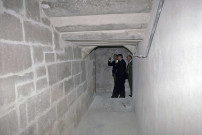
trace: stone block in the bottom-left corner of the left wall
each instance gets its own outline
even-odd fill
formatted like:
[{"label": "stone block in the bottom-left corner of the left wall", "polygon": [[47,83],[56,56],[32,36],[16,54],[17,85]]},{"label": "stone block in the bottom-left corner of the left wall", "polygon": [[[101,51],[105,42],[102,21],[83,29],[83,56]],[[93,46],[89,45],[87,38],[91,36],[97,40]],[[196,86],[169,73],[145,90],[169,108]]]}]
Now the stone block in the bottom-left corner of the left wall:
[{"label": "stone block in the bottom-left corner of the left wall", "polygon": [[0,118],[0,135],[15,135],[18,130],[18,119],[16,111],[12,111]]}]

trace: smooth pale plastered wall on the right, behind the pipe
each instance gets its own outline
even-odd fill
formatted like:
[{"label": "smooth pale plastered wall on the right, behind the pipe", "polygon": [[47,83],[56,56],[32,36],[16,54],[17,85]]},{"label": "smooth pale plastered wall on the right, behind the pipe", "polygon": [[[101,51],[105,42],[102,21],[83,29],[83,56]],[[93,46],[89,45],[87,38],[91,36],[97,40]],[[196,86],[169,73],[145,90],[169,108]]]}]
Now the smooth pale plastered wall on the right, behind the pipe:
[{"label": "smooth pale plastered wall on the right, behind the pipe", "polygon": [[[144,54],[156,15],[153,11]],[[142,135],[202,133],[202,1],[165,1],[149,57],[134,59],[135,116]]]}]

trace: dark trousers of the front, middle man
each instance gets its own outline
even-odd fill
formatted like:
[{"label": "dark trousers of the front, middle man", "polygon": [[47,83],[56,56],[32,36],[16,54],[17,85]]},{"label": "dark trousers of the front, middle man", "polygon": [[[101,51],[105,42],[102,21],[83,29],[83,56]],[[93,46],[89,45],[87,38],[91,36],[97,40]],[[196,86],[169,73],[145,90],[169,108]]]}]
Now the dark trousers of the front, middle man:
[{"label": "dark trousers of the front, middle man", "polygon": [[112,93],[113,98],[125,98],[125,78],[116,78],[114,90]]}]

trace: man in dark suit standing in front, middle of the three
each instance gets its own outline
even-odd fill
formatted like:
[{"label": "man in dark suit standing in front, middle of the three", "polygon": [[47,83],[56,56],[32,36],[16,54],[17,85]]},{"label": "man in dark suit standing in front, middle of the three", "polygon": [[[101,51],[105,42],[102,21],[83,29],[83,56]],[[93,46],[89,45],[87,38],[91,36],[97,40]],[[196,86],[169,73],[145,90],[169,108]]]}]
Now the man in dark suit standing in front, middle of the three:
[{"label": "man in dark suit standing in front, middle of the three", "polygon": [[118,55],[118,63],[116,65],[116,81],[115,90],[113,93],[114,98],[125,98],[125,79],[126,79],[126,62],[123,55]]}]

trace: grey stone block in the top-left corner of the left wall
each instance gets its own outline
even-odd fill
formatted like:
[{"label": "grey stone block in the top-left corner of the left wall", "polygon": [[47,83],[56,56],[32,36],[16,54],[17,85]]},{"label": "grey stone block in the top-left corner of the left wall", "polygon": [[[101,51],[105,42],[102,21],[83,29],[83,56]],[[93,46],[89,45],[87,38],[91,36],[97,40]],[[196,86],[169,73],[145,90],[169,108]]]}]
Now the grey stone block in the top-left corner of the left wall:
[{"label": "grey stone block in the top-left corner of the left wall", "polygon": [[2,0],[5,8],[21,12],[23,10],[23,0]]}]

